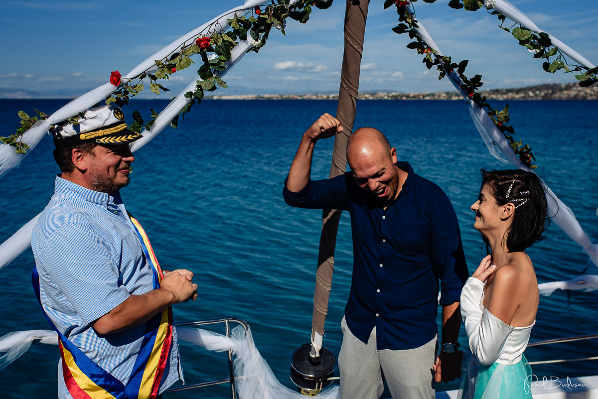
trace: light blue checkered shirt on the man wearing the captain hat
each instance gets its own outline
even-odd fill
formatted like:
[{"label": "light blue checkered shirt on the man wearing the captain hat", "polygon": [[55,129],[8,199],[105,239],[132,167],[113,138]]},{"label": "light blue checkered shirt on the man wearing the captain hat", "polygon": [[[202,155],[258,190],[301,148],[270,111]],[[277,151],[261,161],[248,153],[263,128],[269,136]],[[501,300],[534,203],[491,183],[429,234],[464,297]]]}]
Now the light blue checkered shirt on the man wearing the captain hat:
[{"label": "light blue checkered shirt on the man wearing the captain hat", "polygon": [[[130,294],[152,289],[135,228],[118,193],[91,191],[56,177],[56,190],[33,227],[31,248],[39,273],[41,303],[72,343],[107,372],[127,383],[145,332],[145,323],[98,336],[91,322]],[[71,398],[59,364],[59,398]],[[170,366],[160,392],[182,379],[176,330]]]}]

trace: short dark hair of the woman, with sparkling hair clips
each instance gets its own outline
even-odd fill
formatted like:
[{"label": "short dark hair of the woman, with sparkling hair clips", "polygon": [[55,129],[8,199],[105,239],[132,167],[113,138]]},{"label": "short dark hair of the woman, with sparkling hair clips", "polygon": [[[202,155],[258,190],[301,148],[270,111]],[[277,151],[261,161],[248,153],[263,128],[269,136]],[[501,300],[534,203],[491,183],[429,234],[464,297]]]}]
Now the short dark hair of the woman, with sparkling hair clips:
[{"label": "short dark hair of the woman, with sparkling hair clips", "polygon": [[505,233],[507,250],[524,251],[541,241],[550,219],[547,192],[538,175],[521,169],[480,171],[480,191],[488,185],[498,205],[515,205],[511,226]]}]

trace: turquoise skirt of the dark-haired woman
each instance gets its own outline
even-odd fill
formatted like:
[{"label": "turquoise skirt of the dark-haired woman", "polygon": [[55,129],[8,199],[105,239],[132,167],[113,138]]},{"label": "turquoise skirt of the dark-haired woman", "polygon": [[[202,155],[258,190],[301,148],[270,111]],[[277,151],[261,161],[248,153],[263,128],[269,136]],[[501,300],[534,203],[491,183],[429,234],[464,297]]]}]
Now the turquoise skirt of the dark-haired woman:
[{"label": "turquoise skirt of the dark-haired woman", "polygon": [[472,356],[468,373],[463,377],[459,398],[463,399],[527,399],[532,397],[532,367],[525,356],[517,364],[477,364]]}]

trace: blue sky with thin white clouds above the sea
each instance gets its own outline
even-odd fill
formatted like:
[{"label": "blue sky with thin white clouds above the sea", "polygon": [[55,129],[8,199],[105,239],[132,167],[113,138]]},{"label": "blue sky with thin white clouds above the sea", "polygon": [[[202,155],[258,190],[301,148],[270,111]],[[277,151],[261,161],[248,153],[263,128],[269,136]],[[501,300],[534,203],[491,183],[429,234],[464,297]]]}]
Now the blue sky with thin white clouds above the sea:
[{"label": "blue sky with thin white clouds above the sea", "polygon": [[[453,60],[469,60],[466,74],[482,75],[483,88],[575,82],[572,74],[544,72],[541,61],[497,27],[495,16],[485,10],[453,10],[447,3],[419,1],[417,18],[445,54]],[[596,0],[512,3],[539,27],[598,64]],[[0,0],[4,38],[0,97],[19,91],[29,96],[78,96],[108,81],[112,70],[128,72],[164,45],[240,4],[242,0]],[[334,0],[327,10],[315,9],[307,24],[289,21],[286,37],[273,31],[259,54],[246,55],[228,73],[229,88],[216,93],[338,91],[344,4]],[[383,0],[370,2],[360,90],[453,90],[446,79],[439,82],[437,73],[423,66],[420,56],[405,48],[410,41],[407,35],[390,30],[396,25],[395,11],[383,10],[382,5]],[[166,86],[177,93],[196,76],[194,70],[177,73]]]}]

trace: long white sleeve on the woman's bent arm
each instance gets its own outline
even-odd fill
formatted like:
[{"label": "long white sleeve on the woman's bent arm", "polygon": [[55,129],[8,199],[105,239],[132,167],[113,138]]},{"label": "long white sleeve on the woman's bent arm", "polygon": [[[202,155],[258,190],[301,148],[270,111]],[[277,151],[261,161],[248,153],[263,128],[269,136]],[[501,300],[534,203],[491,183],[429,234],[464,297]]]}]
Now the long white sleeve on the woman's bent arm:
[{"label": "long white sleeve on the woman's bent arm", "polygon": [[461,291],[461,317],[471,353],[478,363],[488,366],[499,358],[514,327],[483,308],[483,292],[484,283],[469,277]]}]

